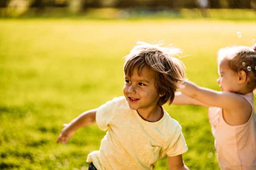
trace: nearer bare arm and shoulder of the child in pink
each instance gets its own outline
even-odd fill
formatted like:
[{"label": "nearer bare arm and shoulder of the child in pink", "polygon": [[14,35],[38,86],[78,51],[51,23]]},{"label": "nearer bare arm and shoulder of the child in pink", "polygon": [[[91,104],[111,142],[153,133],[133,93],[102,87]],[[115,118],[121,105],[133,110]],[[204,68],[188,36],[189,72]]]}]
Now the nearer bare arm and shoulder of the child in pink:
[{"label": "nearer bare arm and shoulder of the child in pink", "polygon": [[184,82],[185,88],[180,91],[206,105],[223,109],[223,117],[230,125],[246,123],[252,112],[250,103],[235,92],[218,92],[199,87],[190,81]]}]

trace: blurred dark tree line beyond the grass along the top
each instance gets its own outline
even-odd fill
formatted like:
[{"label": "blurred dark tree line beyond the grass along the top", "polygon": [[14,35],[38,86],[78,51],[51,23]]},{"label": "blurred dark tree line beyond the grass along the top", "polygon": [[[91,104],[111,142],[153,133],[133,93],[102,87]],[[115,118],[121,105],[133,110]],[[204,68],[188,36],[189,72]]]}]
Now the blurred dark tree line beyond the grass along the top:
[{"label": "blurred dark tree line beyond the grass along the top", "polygon": [[[20,16],[25,13],[41,15],[51,11],[62,13],[80,13],[92,8],[136,9],[166,11],[181,8],[199,8],[203,16],[207,16],[207,9],[254,9],[256,0],[0,0],[0,17]],[[125,11],[121,15],[128,15]],[[123,16],[122,16],[123,17]]]}]

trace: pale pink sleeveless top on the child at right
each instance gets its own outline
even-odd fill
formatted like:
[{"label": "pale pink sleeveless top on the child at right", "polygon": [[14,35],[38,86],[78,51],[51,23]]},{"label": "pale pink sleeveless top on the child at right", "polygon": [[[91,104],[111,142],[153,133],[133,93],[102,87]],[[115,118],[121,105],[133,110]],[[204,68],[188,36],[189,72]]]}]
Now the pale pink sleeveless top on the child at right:
[{"label": "pale pink sleeveless top on the child at right", "polygon": [[209,107],[208,117],[221,170],[256,170],[256,120],[253,93],[242,95],[251,104],[251,117],[243,125],[229,125],[222,109]]}]

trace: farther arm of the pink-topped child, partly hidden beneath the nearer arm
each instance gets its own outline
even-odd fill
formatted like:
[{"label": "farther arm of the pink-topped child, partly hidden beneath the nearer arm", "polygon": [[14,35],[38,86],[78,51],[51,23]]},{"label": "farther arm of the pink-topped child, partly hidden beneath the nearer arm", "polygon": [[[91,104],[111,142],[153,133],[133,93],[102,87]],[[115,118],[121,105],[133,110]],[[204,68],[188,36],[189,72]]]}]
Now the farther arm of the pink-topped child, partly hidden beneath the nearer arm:
[{"label": "farther arm of the pink-topped child, partly hidden beneath the nearer arm", "polygon": [[195,98],[184,95],[182,92],[176,92],[174,100],[172,102],[174,105],[197,105],[203,107],[210,107],[203,102],[196,100]]}]

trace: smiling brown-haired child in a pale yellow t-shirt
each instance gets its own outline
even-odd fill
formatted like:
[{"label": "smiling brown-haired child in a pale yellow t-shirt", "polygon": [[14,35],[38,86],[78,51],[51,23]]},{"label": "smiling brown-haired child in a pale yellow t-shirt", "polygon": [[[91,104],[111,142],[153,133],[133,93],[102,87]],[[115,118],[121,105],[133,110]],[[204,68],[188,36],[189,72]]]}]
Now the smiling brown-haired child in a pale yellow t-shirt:
[{"label": "smiling brown-haired child in a pale yellow t-shirt", "polygon": [[172,57],[177,52],[139,42],[126,56],[124,96],[64,124],[57,143],[67,143],[75,130],[97,123],[108,132],[100,150],[88,155],[89,170],[153,170],[165,155],[170,169],[188,170],[181,126],[161,106],[174,99],[184,80],[182,62]]}]

